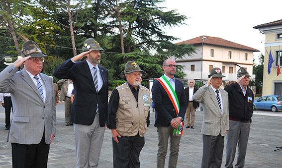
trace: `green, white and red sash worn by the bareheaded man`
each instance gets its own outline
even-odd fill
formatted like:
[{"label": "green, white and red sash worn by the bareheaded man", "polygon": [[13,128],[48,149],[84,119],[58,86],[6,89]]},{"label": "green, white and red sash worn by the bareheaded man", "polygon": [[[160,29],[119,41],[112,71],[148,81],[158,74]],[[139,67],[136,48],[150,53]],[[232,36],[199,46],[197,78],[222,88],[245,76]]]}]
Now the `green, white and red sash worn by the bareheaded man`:
[{"label": "green, white and red sash worn by the bareheaded man", "polygon": [[[170,82],[167,80],[167,78],[163,75],[161,76],[159,79],[157,79],[161,85],[164,87],[164,89],[166,90],[170,100],[172,101],[172,104],[176,110],[176,114],[179,113],[180,111],[180,106],[179,106],[179,101],[177,98],[177,95],[174,91],[174,89],[172,88],[172,85],[170,84]],[[180,125],[178,126],[178,128],[174,129],[174,136],[182,136],[183,134],[183,121],[180,122]]]}]

